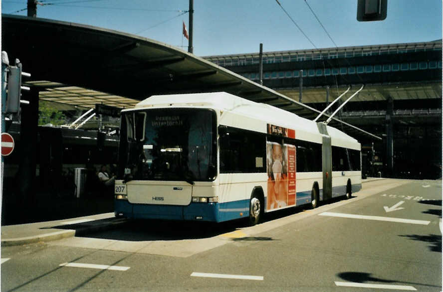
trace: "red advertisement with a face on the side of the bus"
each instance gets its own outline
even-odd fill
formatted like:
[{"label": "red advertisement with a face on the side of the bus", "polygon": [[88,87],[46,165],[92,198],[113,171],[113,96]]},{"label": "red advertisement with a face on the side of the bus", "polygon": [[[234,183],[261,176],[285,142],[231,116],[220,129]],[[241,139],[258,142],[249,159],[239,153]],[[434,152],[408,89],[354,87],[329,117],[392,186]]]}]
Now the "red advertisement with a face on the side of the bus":
[{"label": "red advertisement with a face on the side of the bus", "polygon": [[[288,131],[289,130],[289,131]],[[293,130],[268,125],[268,134],[288,137]],[[292,132],[292,133],[291,133]],[[295,135],[291,135],[295,136]],[[282,141],[283,142],[283,141]],[[267,210],[294,206],[296,203],[296,147],[267,142]]]}]

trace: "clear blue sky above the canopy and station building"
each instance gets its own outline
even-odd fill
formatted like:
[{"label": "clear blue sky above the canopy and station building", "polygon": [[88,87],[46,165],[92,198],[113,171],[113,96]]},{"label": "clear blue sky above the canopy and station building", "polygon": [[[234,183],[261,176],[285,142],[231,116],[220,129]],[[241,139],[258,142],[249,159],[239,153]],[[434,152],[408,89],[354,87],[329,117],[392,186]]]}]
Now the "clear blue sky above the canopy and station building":
[{"label": "clear blue sky above the canopy and station building", "polygon": [[[1,0],[26,15],[27,0]],[[188,50],[189,0],[40,0],[37,17],[137,34]],[[442,0],[388,0],[383,21],[357,21],[357,0],[194,0],[194,54],[242,54],[442,39]],[[312,8],[332,41],[322,28]],[[181,15],[180,15],[181,14]],[[181,47],[183,46],[183,47]]]}]

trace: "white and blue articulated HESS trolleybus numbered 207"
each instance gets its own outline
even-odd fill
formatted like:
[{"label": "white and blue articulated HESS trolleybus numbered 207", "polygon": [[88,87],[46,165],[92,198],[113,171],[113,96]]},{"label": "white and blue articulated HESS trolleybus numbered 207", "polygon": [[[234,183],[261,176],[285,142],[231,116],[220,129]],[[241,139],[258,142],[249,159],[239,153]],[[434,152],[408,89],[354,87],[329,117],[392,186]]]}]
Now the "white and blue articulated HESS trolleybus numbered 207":
[{"label": "white and blue articulated HESS trolleybus numbered 207", "polygon": [[121,113],[115,215],[221,222],[361,189],[361,146],[323,123],[224,92],[152,96]]}]

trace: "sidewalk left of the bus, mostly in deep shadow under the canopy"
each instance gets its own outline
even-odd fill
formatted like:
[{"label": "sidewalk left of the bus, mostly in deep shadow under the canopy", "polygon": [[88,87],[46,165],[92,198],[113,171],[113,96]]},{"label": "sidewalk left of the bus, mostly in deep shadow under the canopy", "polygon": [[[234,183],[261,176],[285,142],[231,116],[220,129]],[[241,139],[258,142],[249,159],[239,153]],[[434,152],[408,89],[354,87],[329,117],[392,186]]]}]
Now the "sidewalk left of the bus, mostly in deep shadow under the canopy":
[{"label": "sidewalk left of the bus, mostly in deep shadow under the canopy", "polygon": [[114,198],[109,195],[76,198],[38,193],[20,200],[6,193],[1,210],[1,246],[84,235],[124,222],[126,219],[114,217]]}]

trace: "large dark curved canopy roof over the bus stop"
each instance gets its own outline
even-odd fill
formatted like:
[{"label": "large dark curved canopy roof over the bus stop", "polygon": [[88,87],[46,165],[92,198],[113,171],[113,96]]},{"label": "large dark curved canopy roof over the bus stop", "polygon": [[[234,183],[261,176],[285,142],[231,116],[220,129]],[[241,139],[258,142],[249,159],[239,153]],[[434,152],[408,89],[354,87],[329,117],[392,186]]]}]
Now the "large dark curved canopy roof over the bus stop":
[{"label": "large dark curved canopy roof over the bus stop", "polygon": [[[39,99],[77,107],[134,106],[152,95],[224,91],[301,117],[320,111],[171,45],[89,25],[2,14],[2,50],[31,73]],[[356,89],[355,89],[356,90]],[[380,139],[348,123],[349,135]]]}]

